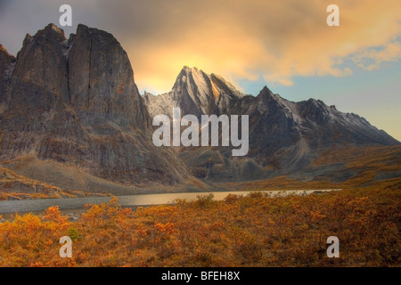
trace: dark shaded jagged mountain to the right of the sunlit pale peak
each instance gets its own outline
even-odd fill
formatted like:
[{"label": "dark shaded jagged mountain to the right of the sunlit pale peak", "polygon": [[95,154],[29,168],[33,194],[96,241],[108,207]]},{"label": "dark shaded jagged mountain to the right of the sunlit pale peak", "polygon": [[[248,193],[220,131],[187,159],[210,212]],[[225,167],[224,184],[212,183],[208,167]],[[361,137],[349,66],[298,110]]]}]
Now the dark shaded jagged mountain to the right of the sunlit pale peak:
[{"label": "dark shaded jagged mountain to the right of the sunlit pale peak", "polygon": [[[267,86],[258,96],[233,98],[231,102],[225,114],[248,115],[251,122],[247,158],[234,161],[224,147],[181,150],[185,163],[200,178],[221,182],[302,175],[313,159],[331,148],[399,144],[356,114],[316,99],[291,102]],[[218,159],[222,157],[225,159]]]}]

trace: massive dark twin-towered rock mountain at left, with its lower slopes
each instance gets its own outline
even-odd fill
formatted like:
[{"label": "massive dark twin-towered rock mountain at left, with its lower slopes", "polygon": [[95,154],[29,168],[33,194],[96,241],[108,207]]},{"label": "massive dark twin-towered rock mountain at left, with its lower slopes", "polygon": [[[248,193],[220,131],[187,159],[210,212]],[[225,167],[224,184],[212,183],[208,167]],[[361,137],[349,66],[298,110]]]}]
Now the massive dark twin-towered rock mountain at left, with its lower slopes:
[{"label": "massive dark twin-towered rock mountain at left, with its lower slopes", "polygon": [[25,37],[16,58],[2,46],[0,71],[4,167],[35,176],[33,165],[47,165],[41,179],[70,187],[77,182],[65,167],[92,183],[176,185],[192,177],[174,151],[152,144],[127,53],[109,33],[78,25],[67,39],[49,24]]}]

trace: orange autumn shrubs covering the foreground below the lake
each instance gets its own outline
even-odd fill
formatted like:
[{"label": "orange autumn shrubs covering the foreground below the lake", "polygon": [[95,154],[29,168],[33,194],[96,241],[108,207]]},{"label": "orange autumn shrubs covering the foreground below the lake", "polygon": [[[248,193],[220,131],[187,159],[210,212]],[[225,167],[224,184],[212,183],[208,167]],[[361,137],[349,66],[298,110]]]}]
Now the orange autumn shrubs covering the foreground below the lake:
[{"label": "orange autumn shrubs covering the foreground below the lake", "polygon": [[[1,266],[399,266],[398,187],[270,198],[260,192],[175,205],[58,208],[0,224]],[[72,258],[59,256],[70,235]],[[340,239],[340,258],[326,239]]]}]

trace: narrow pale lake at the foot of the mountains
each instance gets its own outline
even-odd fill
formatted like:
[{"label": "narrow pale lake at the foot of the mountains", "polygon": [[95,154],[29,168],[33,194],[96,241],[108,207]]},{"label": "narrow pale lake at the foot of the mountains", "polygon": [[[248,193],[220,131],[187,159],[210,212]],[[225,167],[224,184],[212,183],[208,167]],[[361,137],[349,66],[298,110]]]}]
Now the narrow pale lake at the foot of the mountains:
[{"label": "narrow pale lake at the foot of the mountains", "polygon": [[[339,189],[326,190],[289,190],[289,191],[261,191],[269,196],[289,194],[307,195],[313,192],[339,191]],[[218,191],[211,192],[214,199],[225,199],[228,194],[248,195],[250,191]],[[138,194],[117,196],[119,204],[122,207],[140,207],[150,205],[172,204],[175,199],[194,200],[199,195],[207,195],[209,192],[188,192],[188,193],[164,193],[164,194]],[[0,201],[0,214],[13,213],[38,213],[52,206],[59,206],[62,212],[69,210],[84,209],[85,204],[107,203],[110,197],[86,197],[86,198],[64,198],[64,199],[23,199],[23,200],[5,200]]]}]

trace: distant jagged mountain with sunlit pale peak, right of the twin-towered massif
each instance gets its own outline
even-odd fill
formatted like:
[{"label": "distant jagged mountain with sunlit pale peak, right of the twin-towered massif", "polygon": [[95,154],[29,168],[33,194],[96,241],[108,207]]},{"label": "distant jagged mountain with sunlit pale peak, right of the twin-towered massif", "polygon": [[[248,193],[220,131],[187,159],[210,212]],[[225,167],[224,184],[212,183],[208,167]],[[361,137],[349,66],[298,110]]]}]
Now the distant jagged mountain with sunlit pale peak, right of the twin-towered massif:
[{"label": "distant jagged mountain with sunlit pale peak, right of the twin-towered massif", "polygon": [[168,94],[144,94],[143,97],[153,116],[171,116],[173,107],[180,107],[182,114],[198,117],[203,114],[249,116],[250,151],[246,157],[232,157],[230,147],[180,148],[179,154],[192,175],[212,182],[277,175],[304,179],[329,175],[338,168],[311,167],[323,151],[399,143],[366,119],[340,112],[320,100],[291,102],[267,87],[258,96],[244,95],[224,78],[196,68],[184,67]]}]

